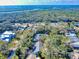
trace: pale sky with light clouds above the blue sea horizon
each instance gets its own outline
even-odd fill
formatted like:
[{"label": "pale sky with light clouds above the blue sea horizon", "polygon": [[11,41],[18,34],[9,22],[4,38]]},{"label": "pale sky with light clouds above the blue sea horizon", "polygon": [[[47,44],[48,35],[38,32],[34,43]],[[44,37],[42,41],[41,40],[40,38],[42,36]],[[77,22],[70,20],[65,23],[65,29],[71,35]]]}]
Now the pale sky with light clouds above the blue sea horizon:
[{"label": "pale sky with light clouds above the blue sea horizon", "polygon": [[79,5],[79,0],[0,0],[0,5]]}]

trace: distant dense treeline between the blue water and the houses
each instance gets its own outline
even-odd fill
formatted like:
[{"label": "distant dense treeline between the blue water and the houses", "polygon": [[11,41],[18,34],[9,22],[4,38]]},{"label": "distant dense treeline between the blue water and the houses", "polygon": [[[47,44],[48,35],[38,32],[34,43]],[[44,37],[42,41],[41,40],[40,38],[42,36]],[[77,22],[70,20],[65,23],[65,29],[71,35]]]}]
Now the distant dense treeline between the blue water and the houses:
[{"label": "distant dense treeline between the blue water and the houses", "polygon": [[14,23],[79,21],[78,10],[31,10],[0,13],[0,31],[13,30]]}]

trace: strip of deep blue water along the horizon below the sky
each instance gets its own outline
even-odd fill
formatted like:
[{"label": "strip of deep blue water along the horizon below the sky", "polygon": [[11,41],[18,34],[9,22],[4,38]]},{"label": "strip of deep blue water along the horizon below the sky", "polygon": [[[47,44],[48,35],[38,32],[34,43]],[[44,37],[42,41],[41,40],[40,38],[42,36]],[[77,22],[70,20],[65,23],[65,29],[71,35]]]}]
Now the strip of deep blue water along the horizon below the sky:
[{"label": "strip of deep blue water along the horizon below the sky", "polygon": [[0,12],[34,10],[34,9],[69,9],[79,8],[79,5],[14,5],[14,6],[0,6]]}]

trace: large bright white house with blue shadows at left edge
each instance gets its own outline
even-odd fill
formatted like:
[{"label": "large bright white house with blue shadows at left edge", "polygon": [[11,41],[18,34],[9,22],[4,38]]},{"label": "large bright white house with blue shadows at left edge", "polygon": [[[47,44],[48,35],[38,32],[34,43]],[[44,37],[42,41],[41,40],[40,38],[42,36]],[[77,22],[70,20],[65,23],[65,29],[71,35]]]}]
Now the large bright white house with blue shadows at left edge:
[{"label": "large bright white house with blue shadows at left edge", "polygon": [[15,33],[13,33],[12,31],[5,31],[4,33],[0,35],[0,40],[2,41],[9,42],[13,38],[15,38]]}]

